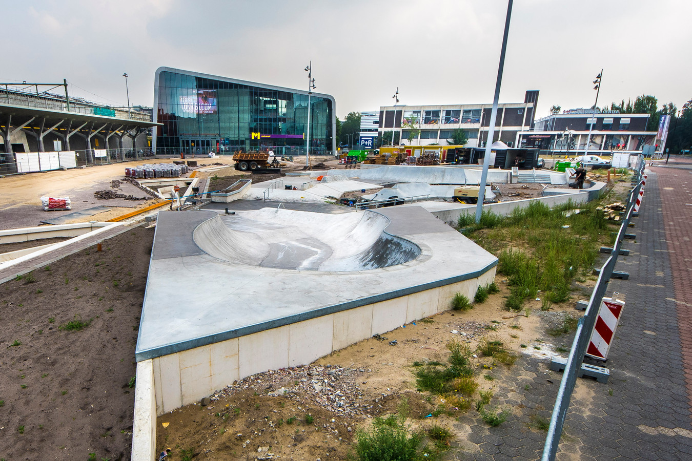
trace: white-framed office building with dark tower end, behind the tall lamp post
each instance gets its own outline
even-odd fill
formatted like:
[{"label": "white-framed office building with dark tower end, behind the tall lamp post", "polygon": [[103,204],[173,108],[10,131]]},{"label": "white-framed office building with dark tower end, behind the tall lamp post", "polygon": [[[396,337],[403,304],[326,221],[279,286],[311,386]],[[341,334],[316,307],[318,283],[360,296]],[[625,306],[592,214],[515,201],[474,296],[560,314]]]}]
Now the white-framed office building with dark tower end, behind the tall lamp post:
[{"label": "white-framed office building with dark tower end, behind the tall lamp post", "polygon": [[[522,103],[500,104],[493,142],[500,140],[509,147],[518,147],[518,133],[531,129],[537,102],[536,90],[527,91]],[[379,134],[394,131],[394,142],[400,139],[401,145],[444,146],[450,144],[455,129],[462,129],[468,138],[466,147],[484,147],[492,108],[493,104],[382,106]]]}]

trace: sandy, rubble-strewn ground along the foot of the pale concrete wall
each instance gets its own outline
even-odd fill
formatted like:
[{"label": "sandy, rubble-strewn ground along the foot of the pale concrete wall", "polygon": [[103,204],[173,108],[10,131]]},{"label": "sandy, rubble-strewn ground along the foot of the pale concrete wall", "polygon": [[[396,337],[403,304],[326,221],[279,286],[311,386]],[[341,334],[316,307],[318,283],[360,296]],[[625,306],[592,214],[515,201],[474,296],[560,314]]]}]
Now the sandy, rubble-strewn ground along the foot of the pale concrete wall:
[{"label": "sandy, rubble-strewn ground along the foot of the pale concrete wall", "polygon": [[[464,341],[475,349],[482,338],[502,341],[520,361],[545,359],[556,348],[568,348],[571,340],[571,335],[549,336],[545,328],[561,323],[565,314],[578,315],[573,301],[554,305],[549,312],[540,310],[540,301],[529,301],[529,317],[511,314],[503,307],[507,283],[503,276],[497,281],[501,292],[468,312],[449,311],[409,323],[385,333],[383,341],[360,341],[311,366],[248,377],[212,395],[208,406],[192,404],[161,415],[157,449],[170,447],[179,458],[210,460],[342,460],[352,450],[357,429],[367,427],[374,416],[397,413],[405,399],[413,430],[431,424],[455,427],[453,452],[473,452],[465,429],[456,424],[460,413],[426,417],[444,401],[417,391],[413,362],[444,361],[448,341]],[[393,340],[397,344],[390,346]],[[520,366],[495,364],[482,356],[473,364],[479,390],[493,389],[496,395],[516,399],[519,391],[499,379],[518,377]],[[491,404],[512,413],[529,411],[522,405],[508,408],[502,398]],[[465,413],[480,420],[473,408]]]}]

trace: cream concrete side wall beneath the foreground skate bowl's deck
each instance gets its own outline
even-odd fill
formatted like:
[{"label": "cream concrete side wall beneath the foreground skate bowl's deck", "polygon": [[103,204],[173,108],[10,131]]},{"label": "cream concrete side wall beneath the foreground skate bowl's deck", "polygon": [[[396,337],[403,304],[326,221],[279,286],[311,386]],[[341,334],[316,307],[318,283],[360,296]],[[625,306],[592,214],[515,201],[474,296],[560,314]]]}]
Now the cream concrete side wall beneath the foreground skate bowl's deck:
[{"label": "cream concrete side wall beneath the foreground skate bowl's deck", "polygon": [[495,267],[475,279],[148,359],[154,364],[156,414],[197,402],[237,379],[309,364],[376,333],[448,310],[455,293],[473,298],[479,285],[494,278]]}]

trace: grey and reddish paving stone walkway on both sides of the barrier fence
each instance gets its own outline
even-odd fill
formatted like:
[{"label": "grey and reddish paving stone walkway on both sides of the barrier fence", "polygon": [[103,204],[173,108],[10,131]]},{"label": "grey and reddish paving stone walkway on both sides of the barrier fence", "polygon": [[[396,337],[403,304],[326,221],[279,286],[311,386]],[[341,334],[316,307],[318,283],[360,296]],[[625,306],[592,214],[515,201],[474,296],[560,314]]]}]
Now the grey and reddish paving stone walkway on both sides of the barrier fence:
[{"label": "grey and reddish paving stone walkway on both sides of the barrier fence", "polygon": [[[663,162],[655,162],[662,164]],[[626,301],[608,368],[610,381],[578,379],[557,458],[692,460],[692,158],[671,156],[648,168],[636,240],[626,240],[608,294]],[[478,444],[463,460],[538,460],[545,433],[531,416],[549,418],[562,373],[524,357],[519,377],[498,382],[515,411],[495,428],[462,418]],[[516,375],[516,372],[513,372]],[[510,382],[511,381],[511,382]],[[497,395],[497,394],[496,394]],[[520,413],[520,415],[518,415]]]}]

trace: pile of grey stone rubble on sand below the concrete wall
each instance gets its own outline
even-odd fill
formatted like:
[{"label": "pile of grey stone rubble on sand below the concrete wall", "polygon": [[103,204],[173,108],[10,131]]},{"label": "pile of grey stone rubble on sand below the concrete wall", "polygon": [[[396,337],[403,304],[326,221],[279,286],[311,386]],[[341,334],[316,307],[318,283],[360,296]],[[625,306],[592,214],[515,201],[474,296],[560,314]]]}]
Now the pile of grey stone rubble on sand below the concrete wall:
[{"label": "pile of grey stone rubble on sand below the concrete wall", "polygon": [[235,395],[248,388],[262,389],[265,395],[281,396],[314,404],[345,416],[364,415],[372,408],[358,387],[361,376],[372,370],[344,368],[336,365],[300,365],[269,370],[230,384],[210,397],[211,402]]}]

